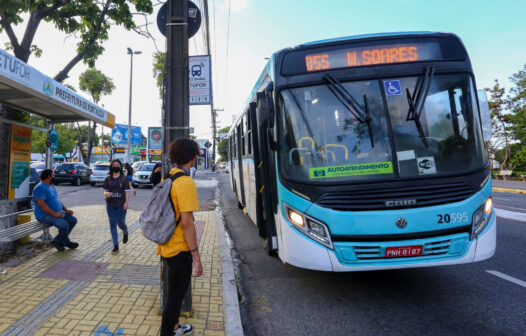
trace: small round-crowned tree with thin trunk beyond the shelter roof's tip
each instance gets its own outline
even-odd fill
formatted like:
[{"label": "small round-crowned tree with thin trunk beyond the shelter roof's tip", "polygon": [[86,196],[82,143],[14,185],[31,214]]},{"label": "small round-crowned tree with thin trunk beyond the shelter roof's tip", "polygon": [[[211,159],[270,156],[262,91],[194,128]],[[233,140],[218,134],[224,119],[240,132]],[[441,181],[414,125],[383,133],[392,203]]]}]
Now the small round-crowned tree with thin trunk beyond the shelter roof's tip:
[{"label": "small round-crowned tree with thin trunk beyond the shelter roof's tip", "polygon": [[[113,80],[103,74],[100,70],[96,68],[90,68],[84,71],[79,77],[79,88],[84,92],[89,92],[93,102],[98,105],[100,97],[102,95],[109,95],[115,89]],[[95,138],[95,129],[97,124],[93,123],[93,128],[91,127],[91,122],[88,122],[88,155],[85,158],[85,163],[89,164],[91,160],[91,150],[93,148],[93,139]]]}]

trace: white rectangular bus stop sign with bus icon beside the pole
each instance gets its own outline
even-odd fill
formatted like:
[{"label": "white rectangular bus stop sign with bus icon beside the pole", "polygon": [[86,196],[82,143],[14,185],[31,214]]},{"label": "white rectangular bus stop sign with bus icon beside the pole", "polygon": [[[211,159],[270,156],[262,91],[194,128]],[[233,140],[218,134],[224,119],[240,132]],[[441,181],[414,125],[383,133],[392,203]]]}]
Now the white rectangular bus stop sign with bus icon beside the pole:
[{"label": "white rectangular bus stop sign with bus icon beside the pole", "polygon": [[212,104],[212,72],[210,55],[190,56],[188,80],[190,105]]}]

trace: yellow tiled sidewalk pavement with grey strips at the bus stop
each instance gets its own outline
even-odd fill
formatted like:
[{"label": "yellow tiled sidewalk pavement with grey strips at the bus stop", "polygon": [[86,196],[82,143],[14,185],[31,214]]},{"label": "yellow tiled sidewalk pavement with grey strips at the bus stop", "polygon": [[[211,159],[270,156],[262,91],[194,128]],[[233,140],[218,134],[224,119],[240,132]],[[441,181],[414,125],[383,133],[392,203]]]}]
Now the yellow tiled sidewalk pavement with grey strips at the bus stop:
[{"label": "yellow tiled sidewalk pavement with grey strips at the bus stop", "polygon": [[[128,211],[130,241],[112,255],[105,207],[73,210],[78,249],[51,249],[0,275],[0,335],[158,335],[159,256],[140,232],[139,212]],[[194,335],[226,335],[215,213],[195,219],[204,275],[193,278],[192,312],[180,321]]]}]

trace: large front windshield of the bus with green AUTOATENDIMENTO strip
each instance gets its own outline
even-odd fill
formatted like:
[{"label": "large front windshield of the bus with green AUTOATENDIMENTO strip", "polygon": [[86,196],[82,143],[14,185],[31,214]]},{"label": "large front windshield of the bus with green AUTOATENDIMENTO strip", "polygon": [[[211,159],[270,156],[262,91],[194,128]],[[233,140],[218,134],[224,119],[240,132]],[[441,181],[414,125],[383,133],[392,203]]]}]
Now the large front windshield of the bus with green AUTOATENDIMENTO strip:
[{"label": "large front windshield of the bus with green AUTOATENDIMENTO strip", "polygon": [[487,158],[470,76],[429,76],[416,115],[412,98],[422,77],[283,90],[282,173],[329,182],[454,175],[483,167]]}]

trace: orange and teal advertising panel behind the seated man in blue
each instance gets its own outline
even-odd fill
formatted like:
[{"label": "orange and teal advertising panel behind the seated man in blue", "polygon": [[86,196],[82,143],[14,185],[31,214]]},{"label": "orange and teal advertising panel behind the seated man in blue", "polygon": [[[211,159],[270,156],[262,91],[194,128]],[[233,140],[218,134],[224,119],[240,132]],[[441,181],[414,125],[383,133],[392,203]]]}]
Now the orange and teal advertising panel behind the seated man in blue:
[{"label": "orange and teal advertising panel behind the seated man in blue", "polygon": [[13,125],[9,154],[9,199],[29,196],[31,129]]}]

